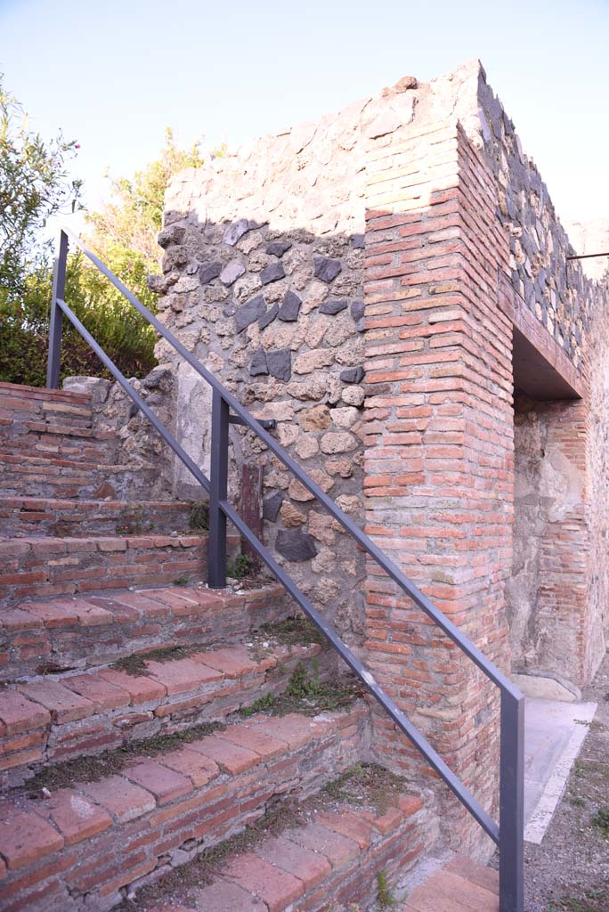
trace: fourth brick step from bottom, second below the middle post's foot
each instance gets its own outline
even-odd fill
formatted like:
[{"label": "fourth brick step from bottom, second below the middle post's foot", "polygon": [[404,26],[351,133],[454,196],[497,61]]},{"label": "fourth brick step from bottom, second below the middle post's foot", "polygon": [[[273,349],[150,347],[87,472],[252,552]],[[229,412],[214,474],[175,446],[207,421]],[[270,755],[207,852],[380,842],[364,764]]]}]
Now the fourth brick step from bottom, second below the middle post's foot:
[{"label": "fourth brick step from bottom, second below the middle post's foot", "polygon": [[141,670],[131,660],[0,690],[0,781],[15,786],[48,764],[223,721],[283,693],[300,662],[315,658],[320,679],[335,677],[335,653],[320,657],[319,643],[284,646],[261,635],[251,644],[193,644],[166,658],[153,653]]}]

